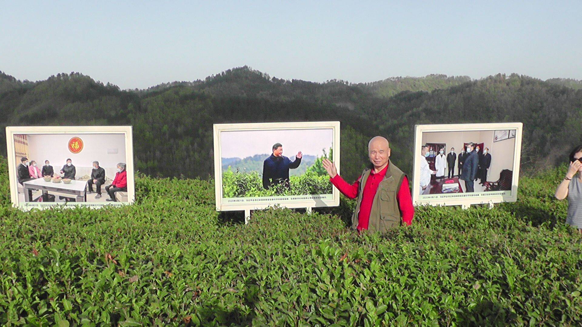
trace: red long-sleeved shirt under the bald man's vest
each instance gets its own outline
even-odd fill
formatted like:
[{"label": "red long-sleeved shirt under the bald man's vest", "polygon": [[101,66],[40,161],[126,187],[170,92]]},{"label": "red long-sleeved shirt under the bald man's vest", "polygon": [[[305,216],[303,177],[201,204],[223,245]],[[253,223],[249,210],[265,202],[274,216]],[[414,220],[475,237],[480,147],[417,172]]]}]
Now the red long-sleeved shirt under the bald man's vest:
[{"label": "red long-sleeved shirt under the bald man's vest", "polygon": [[[390,165],[390,162],[388,162],[388,165]],[[386,170],[388,170],[388,165],[378,173],[374,173],[374,169],[372,169],[370,176],[368,176],[368,179],[366,180],[360,204],[360,213],[358,214],[358,231],[368,229],[370,212],[372,211],[372,202],[374,201],[374,196],[378,190],[378,185],[382,180],[384,180]],[[358,177],[353,184],[347,183],[343,180],[342,176],[339,176],[339,174],[329,180],[331,180],[331,183],[346,197],[357,198],[360,190],[361,177],[362,176]],[[404,179],[402,180],[402,185],[400,186],[400,190],[398,190],[396,200],[398,201],[398,207],[400,208],[402,222],[406,223],[406,225],[410,225],[412,223],[412,217],[414,216],[414,207],[412,205],[412,197],[410,196],[409,184],[406,176],[404,176]]]}]

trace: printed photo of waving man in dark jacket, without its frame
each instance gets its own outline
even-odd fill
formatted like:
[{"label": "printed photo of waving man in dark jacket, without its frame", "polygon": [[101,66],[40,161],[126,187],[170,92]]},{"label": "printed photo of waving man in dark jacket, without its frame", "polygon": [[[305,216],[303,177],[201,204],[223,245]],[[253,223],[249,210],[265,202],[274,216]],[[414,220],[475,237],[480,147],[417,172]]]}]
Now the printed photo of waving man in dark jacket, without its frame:
[{"label": "printed photo of waving man in dark jacket, without its frame", "polygon": [[332,194],[321,161],[332,158],[333,129],[220,134],[223,198]]}]

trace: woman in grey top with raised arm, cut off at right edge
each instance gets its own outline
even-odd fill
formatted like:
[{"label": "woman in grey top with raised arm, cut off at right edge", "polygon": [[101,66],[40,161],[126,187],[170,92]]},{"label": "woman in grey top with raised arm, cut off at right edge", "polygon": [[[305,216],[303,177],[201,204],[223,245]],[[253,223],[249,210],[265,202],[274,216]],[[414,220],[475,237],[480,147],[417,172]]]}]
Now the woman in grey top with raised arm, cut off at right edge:
[{"label": "woman in grey top with raised arm, cut off at right edge", "polygon": [[578,229],[582,233],[582,145],[578,145],[570,153],[570,167],[566,177],[556,190],[556,198],[564,200],[568,198],[568,214],[566,223]]}]

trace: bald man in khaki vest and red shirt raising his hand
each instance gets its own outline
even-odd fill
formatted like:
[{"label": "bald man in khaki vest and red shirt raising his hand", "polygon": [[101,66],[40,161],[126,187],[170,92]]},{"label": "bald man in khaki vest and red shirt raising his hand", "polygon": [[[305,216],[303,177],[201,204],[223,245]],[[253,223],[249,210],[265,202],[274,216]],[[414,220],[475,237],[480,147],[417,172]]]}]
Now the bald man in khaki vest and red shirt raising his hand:
[{"label": "bald man in khaki vest and red shirt raising his hand", "polygon": [[380,233],[410,225],[414,216],[412,197],[406,174],[390,162],[390,144],[386,138],[373,137],[368,143],[372,168],[364,169],[353,184],[338,175],[335,164],[324,159],[323,166],[332,184],[348,198],[357,198],[352,228],[377,230]]}]

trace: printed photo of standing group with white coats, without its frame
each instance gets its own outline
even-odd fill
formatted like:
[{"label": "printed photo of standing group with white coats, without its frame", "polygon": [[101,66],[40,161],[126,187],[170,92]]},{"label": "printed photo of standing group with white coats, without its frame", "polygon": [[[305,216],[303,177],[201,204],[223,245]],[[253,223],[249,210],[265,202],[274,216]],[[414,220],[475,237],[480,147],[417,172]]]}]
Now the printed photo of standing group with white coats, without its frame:
[{"label": "printed photo of standing group with white coats, without its frame", "polygon": [[418,194],[511,191],[515,135],[515,130],[423,132]]}]

